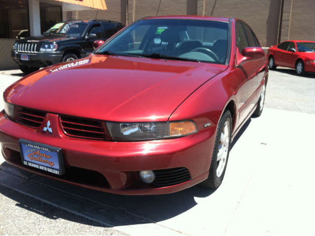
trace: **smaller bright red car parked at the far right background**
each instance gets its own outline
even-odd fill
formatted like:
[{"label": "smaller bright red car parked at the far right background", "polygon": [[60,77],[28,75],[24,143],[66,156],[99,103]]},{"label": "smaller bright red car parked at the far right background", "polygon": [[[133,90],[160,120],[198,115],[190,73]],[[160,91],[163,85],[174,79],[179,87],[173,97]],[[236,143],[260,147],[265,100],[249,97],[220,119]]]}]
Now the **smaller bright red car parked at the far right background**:
[{"label": "smaller bright red car parked at the far right background", "polygon": [[315,72],[315,42],[285,41],[268,49],[269,68],[294,68],[297,75]]}]

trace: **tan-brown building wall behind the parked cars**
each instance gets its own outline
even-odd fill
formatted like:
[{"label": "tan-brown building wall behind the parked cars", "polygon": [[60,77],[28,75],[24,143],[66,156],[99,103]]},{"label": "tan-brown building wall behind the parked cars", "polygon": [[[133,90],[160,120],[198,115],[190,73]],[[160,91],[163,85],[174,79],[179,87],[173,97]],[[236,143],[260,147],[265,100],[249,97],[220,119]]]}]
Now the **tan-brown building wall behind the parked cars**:
[{"label": "tan-brown building wall behind the parked cars", "polygon": [[[79,11],[78,18],[83,20],[95,19],[97,14],[97,19],[115,20],[123,24],[130,24],[133,20],[146,16],[202,15],[204,11],[207,16],[235,17],[244,20],[252,27],[261,45],[269,47],[277,44],[278,41],[281,1],[106,0],[108,10]],[[134,5],[135,9],[133,9]],[[126,12],[126,6],[128,6],[128,12]],[[128,15],[128,21],[126,21],[126,15]],[[63,13],[63,19],[66,18],[69,17]],[[280,41],[288,38],[315,41],[314,18],[315,0],[284,0]]]}]

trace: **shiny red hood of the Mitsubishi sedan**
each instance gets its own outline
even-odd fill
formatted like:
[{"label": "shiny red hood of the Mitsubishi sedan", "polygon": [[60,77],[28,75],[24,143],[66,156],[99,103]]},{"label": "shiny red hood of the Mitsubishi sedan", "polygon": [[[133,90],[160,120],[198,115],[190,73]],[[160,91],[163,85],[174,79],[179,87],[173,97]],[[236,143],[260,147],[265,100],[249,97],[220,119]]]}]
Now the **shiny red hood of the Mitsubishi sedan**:
[{"label": "shiny red hood of the Mitsubishi sedan", "polygon": [[15,105],[107,121],[167,121],[227,66],[134,57],[90,56],[39,70],[10,86]]}]

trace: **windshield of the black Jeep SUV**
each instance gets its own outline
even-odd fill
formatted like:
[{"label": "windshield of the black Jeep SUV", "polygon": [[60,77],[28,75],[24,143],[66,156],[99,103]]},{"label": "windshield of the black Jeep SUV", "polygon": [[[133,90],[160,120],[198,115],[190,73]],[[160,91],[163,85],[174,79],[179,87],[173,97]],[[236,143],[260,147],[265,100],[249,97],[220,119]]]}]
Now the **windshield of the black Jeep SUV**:
[{"label": "windshield of the black Jeep SUV", "polygon": [[81,36],[87,27],[87,24],[81,23],[82,21],[70,21],[60,22],[54,25],[45,33],[50,34],[70,34],[75,36]]}]

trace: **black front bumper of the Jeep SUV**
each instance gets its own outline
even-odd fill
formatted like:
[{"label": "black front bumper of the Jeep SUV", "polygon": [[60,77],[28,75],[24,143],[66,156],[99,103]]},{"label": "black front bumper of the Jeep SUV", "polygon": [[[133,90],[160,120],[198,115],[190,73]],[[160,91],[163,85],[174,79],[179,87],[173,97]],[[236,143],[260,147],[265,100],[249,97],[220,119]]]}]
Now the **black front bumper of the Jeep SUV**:
[{"label": "black front bumper of the Jeep SUV", "polygon": [[[29,60],[21,60],[21,55],[29,55]],[[47,67],[60,63],[63,58],[63,52],[37,52],[22,53],[17,50],[11,50],[11,58],[19,65],[29,67]]]}]

